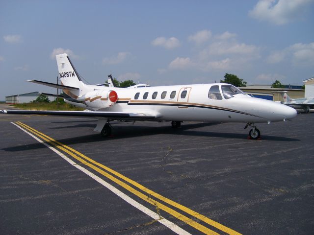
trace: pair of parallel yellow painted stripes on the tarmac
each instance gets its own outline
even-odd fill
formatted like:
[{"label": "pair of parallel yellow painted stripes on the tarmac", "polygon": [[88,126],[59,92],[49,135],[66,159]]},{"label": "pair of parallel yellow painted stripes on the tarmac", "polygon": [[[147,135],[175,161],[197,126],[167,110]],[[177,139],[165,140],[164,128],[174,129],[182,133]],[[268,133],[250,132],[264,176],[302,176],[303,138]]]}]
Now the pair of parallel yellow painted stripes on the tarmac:
[{"label": "pair of parallel yellow painted stripes on the tarmac", "polygon": [[[138,184],[137,182],[131,180],[130,178],[120,174],[119,172],[103,165],[100,164],[96,161],[94,161],[93,159],[85,156],[84,154],[78,152],[77,150],[63,144],[60,143],[59,141],[53,140],[51,137],[35,130],[34,128],[31,128],[30,126],[27,126],[26,124],[17,121],[15,122],[17,125],[19,125],[20,127],[28,130],[29,132],[33,133],[34,135],[36,135],[37,137],[41,138],[42,140],[46,141],[46,143],[51,144],[55,147],[57,147],[58,149],[62,150],[63,152],[69,154],[70,156],[72,156],[73,158],[75,158],[76,160],[78,160],[81,164],[84,164],[86,166],[89,166],[90,168],[94,169],[95,171],[97,171],[98,173],[104,175],[106,178],[110,179],[111,181],[115,182],[116,184],[120,185],[121,187],[127,189],[128,191],[130,191],[131,193],[133,193],[134,195],[138,196],[139,198],[141,198],[142,200],[154,205],[155,207],[159,208],[162,211],[165,211],[169,214],[171,214],[172,216],[176,217],[177,219],[182,220],[184,223],[190,225],[191,227],[201,231],[204,234],[208,234],[208,235],[219,235],[218,233],[210,230],[209,228],[205,227],[204,225],[195,222],[194,220],[186,217],[185,215],[183,215],[182,213],[175,211],[173,209],[171,209],[170,207],[160,203],[159,201],[155,200],[152,198],[155,197],[157,199],[159,199],[160,201],[167,203],[169,205],[171,205],[172,207],[175,207],[177,209],[180,209],[181,211],[194,216],[195,218],[229,234],[229,235],[241,235],[240,233],[218,223],[215,222],[211,219],[209,219],[208,217],[193,211],[187,207],[184,207],[183,205],[180,205],[179,203],[176,203],[160,194],[158,194],[157,192],[154,192],[140,184]],[[111,173],[111,174],[109,174]],[[120,179],[118,179],[120,178]],[[127,183],[121,181],[124,180],[125,182],[129,183],[130,185],[132,185],[134,188],[132,188],[130,185],[128,185]],[[142,190],[144,193],[138,191],[138,188],[140,190]],[[148,194],[148,195],[147,195]]]}]

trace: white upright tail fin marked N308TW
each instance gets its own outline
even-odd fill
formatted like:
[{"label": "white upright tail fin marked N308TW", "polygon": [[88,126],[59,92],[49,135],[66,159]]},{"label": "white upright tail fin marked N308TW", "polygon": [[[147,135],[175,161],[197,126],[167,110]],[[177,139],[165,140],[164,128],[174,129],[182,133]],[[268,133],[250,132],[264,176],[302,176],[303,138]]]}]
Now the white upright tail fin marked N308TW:
[{"label": "white upright tail fin marked N308TW", "polygon": [[55,56],[62,85],[81,87],[82,80],[67,54]]}]

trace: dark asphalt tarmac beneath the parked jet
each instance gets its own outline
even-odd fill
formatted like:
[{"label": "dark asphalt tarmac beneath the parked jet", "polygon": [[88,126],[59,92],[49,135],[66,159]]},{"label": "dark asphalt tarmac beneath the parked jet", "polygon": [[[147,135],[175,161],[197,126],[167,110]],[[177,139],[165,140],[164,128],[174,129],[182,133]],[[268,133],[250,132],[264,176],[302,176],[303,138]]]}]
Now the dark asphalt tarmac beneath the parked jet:
[{"label": "dark asphalt tarmac beneath the parked jet", "polygon": [[[314,234],[314,114],[258,124],[257,141],[247,139],[245,123],[184,122],[179,129],[170,122],[111,124],[113,135],[104,139],[93,132],[93,119],[0,115],[0,234],[176,234],[162,218],[180,234]],[[44,145],[21,128],[60,144],[50,139]],[[94,162],[80,162],[82,156]],[[102,173],[102,165],[125,184]]]}]

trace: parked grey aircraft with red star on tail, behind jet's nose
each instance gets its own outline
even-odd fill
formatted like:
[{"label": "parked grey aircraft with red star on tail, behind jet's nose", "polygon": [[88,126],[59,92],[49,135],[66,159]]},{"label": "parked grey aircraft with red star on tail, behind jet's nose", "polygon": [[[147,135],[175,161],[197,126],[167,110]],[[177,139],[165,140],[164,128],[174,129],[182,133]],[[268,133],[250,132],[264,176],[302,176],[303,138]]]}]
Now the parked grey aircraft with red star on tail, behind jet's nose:
[{"label": "parked grey aircraft with red star on tail, behind jet's nose", "polygon": [[310,109],[314,109],[314,97],[291,99],[287,94],[288,91],[274,92],[279,93],[284,99],[282,104],[286,104],[294,109],[302,109],[304,113],[309,113]]}]

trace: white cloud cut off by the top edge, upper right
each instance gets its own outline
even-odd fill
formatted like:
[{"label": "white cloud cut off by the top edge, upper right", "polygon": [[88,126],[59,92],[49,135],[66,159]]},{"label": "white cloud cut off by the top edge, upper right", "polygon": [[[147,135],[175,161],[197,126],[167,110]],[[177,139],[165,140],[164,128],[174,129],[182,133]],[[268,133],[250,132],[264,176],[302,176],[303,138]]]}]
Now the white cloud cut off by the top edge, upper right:
[{"label": "white cloud cut off by the top edge, upper right", "polygon": [[304,17],[313,0],[259,0],[249,16],[273,24],[287,24]]}]

